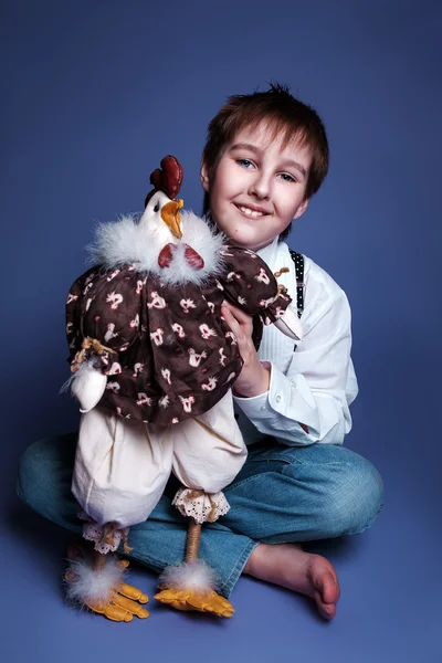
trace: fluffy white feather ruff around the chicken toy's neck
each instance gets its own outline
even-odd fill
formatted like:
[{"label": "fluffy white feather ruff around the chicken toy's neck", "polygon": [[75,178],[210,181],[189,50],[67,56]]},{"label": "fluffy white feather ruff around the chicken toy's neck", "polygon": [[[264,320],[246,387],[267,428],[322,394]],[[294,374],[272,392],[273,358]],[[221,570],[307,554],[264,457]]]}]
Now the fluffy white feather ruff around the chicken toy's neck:
[{"label": "fluffy white feather ruff around the chicken toy's neck", "polygon": [[[192,211],[181,214],[182,239],[177,241],[171,233],[156,232],[138,223],[139,214],[122,217],[115,223],[101,223],[95,240],[87,246],[91,265],[103,264],[106,269],[134,264],[139,272],[161,276],[168,284],[191,282],[203,285],[209,276],[221,273],[223,261],[220,254],[225,236],[215,233],[209,224]],[[167,230],[166,224],[162,230]],[[158,255],[168,242],[177,249],[170,267],[160,267]],[[201,270],[193,270],[185,260],[185,244],[197,251],[204,261]]]}]

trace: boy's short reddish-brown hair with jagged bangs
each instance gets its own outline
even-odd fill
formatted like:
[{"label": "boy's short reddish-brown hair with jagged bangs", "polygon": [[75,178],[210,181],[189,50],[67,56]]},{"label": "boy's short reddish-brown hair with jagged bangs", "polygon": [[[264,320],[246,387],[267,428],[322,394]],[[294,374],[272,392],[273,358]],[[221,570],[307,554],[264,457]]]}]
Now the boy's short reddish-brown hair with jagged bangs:
[{"label": "boy's short reddish-brown hair with jagged bangs", "polygon": [[[208,137],[202,151],[209,176],[213,177],[219,158],[224,147],[245,126],[257,125],[269,120],[273,131],[272,138],[284,133],[284,147],[297,140],[303,147],[312,149],[312,165],[308,170],[305,199],[312,198],[323,183],[329,161],[329,149],[325,126],[312,106],[296,99],[286,85],[271,83],[270,90],[253,94],[233,95],[208,127]],[[210,211],[209,194],[204,194],[202,213]],[[280,239],[287,236],[291,225],[281,233]]]}]

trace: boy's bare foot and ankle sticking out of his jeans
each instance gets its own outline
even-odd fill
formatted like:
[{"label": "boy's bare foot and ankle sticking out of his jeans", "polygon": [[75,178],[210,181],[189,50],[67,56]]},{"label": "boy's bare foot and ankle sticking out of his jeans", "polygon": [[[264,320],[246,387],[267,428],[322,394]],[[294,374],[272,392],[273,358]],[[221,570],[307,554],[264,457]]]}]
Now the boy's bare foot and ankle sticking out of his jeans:
[{"label": "boy's bare foot and ankle sticking out of his jeans", "polygon": [[340,590],[334,567],[299,544],[259,544],[243,572],[312,597],[325,619],[336,614]]}]

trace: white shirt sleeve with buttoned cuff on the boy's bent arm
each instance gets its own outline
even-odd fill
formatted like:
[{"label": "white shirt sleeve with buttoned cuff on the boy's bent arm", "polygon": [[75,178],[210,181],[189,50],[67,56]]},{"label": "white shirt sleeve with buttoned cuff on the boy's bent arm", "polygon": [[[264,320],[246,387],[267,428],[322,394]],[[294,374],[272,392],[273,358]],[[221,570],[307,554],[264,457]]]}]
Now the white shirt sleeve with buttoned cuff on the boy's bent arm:
[{"label": "white shirt sleeve with buttoned cuff on the boy's bent arm", "polygon": [[[344,291],[336,288],[334,295],[314,307],[286,373],[271,361],[269,391],[234,400],[261,433],[285,444],[343,444],[351,429],[346,394],[350,349],[350,307]],[[351,400],[356,393],[357,388]],[[298,422],[308,428],[308,433]]]}]

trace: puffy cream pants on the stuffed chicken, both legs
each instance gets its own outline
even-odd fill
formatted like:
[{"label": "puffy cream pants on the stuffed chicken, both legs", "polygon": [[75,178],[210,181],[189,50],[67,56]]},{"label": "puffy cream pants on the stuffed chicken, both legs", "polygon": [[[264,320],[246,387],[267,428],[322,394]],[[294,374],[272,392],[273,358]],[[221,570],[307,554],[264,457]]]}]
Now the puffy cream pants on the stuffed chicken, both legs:
[{"label": "puffy cream pants on the stuffed chicken, both legs", "polygon": [[82,415],[72,491],[94,526],[125,529],[148,518],[171,471],[189,488],[218,493],[245,459],[231,391],[204,414],[168,427],[94,408]]}]

